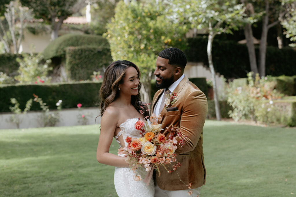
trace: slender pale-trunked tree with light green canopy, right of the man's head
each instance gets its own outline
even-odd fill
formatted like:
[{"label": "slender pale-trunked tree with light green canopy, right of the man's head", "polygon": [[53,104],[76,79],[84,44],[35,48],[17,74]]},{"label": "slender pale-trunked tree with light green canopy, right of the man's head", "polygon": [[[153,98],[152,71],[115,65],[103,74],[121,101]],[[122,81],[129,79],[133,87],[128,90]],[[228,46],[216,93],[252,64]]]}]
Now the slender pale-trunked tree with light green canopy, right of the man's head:
[{"label": "slender pale-trunked tree with light green canopy, right of the man's head", "polygon": [[207,57],[213,78],[214,102],[217,120],[221,120],[218,101],[218,90],[215,80],[215,69],[212,57],[212,44],[215,35],[232,33],[231,29],[237,30],[242,24],[244,9],[242,4],[230,0],[186,0],[175,4],[180,17],[191,22],[192,27],[205,30],[208,33]]}]

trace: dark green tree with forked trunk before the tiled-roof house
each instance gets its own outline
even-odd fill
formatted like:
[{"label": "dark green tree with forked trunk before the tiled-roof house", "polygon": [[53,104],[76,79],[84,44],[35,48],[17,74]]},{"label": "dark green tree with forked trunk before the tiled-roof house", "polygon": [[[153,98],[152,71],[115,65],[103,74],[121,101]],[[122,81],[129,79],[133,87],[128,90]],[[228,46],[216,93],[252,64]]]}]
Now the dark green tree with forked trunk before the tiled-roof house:
[{"label": "dark green tree with forked trunk before the tiled-roof house", "polygon": [[51,25],[52,40],[58,37],[63,21],[86,6],[85,0],[20,0],[22,5],[33,9],[35,18]]}]

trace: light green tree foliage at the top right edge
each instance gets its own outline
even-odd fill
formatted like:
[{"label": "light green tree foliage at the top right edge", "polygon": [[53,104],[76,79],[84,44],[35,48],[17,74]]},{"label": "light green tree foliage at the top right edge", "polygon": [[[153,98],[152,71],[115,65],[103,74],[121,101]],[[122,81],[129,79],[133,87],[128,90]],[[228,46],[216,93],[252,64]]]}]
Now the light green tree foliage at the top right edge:
[{"label": "light green tree foliage at the top right edge", "polygon": [[[282,5],[286,8],[286,13],[280,16],[281,25],[287,30],[284,32],[291,41],[296,41],[296,0],[282,0]],[[290,44],[296,47],[296,44]]]}]

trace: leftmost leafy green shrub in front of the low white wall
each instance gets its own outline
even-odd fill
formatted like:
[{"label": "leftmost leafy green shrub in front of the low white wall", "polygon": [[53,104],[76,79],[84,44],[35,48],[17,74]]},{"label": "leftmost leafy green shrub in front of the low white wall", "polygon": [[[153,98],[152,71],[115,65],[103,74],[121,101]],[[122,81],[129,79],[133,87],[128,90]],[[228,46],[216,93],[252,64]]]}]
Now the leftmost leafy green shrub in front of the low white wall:
[{"label": "leftmost leafy green shrub in front of the low white wall", "polygon": [[13,115],[10,116],[9,121],[15,123],[17,125],[17,128],[20,128],[20,123],[22,121],[20,119],[20,114],[26,114],[30,110],[32,105],[32,99],[29,99],[26,102],[26,106],[23,112],[20,109],[20,103],[15,98],[10,98],[10,102],[15,106],[9,107],[9,109],[13,112]]}]

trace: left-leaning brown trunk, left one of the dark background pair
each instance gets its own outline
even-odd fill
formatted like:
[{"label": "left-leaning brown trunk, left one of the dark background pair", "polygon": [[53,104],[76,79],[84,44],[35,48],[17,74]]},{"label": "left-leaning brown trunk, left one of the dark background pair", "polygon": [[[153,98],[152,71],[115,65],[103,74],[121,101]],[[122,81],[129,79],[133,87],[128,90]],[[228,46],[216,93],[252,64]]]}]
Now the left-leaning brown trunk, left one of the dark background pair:
[{"label": "left-leaning brown trunk, left one of the dark background pair", "polygon": [[247,42],[246,44],[247,44],[248,53],[249,53],[251,71],[253,72],[253,77],[255,78],[256,73],[259,73],[259,72],[258,72],[257,62],[256,62],[255,46],[253,41],[253,31],[250,23],[247,23],[245,25],[244,35],[246,37],[246,42]]}]

